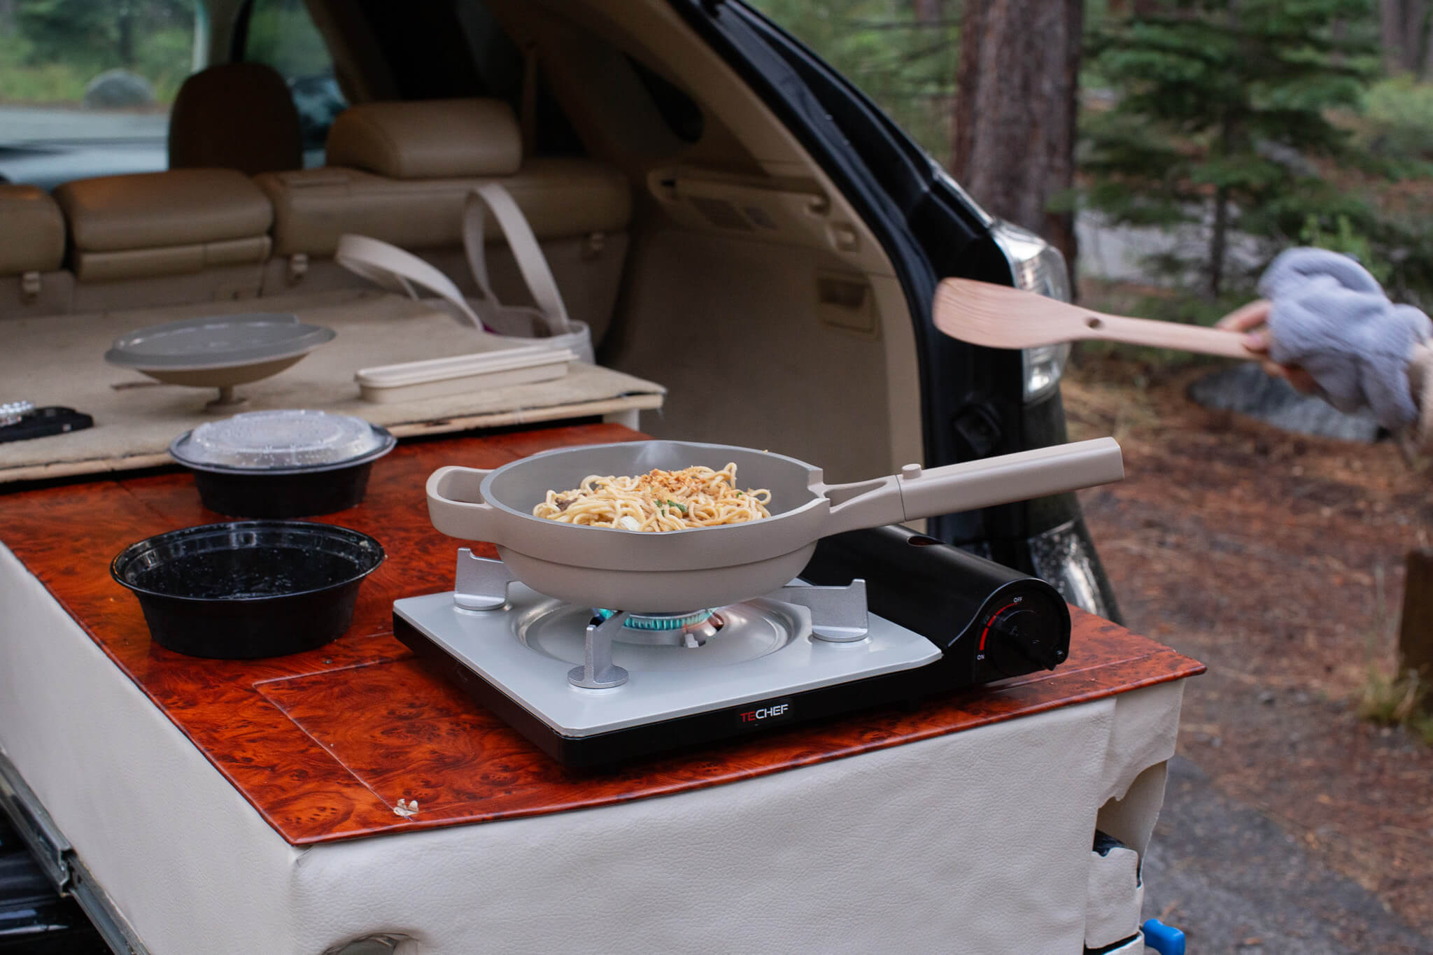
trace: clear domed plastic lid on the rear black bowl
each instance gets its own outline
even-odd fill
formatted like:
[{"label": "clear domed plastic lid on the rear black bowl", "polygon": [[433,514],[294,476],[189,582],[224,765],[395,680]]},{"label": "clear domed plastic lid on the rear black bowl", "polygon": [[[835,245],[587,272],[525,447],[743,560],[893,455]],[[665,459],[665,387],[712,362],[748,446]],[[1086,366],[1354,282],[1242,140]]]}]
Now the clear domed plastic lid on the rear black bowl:
[{"label": "clear domed plastic lid on the rear black bowl", "polygon": [[394,445],[387,430],[353,415],[284,409],[201,424],[169,445],[182,464],[208,470],[294,471],[375,458]]}]

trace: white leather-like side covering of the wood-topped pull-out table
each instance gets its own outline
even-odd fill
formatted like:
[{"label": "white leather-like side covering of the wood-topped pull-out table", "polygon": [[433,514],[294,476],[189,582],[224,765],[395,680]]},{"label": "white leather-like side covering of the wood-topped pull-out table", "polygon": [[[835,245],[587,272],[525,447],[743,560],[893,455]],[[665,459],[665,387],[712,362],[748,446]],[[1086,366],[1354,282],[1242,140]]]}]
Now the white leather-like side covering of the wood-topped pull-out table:
[{"label": "white leather-like side covering of the wood-topped pull-out table", "polygon": [[[0,607],[0,749],[155,955],[373,935],[404,955],[1078,954],[1096,813],[1172,753],[1182,692],[675,796],[295,848],[4,548]],[[1162,775],[1144,838],[1161,798]]]}]

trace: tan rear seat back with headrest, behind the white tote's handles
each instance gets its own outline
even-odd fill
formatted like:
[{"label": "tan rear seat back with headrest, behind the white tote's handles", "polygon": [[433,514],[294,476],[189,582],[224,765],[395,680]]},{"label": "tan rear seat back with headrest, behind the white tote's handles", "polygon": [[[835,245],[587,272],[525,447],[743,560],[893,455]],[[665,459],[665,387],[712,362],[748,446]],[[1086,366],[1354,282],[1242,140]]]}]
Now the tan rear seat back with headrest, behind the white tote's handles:
[{"label": "tan rear seat back with headrest, behind the white tote's handles", "polygon": [[[512,109],[489,99],[353,106],[334,120],[327,153],[320,169],[255,178],[274,203],[267,295],[299,282],[357,282],[322,262],[345,232],[423,255],[471,292],[463,203],[474,186],[499,182],[532,223],[567,311],[598,336],[606,328],[632,218],[619,170],[579,157],[524,159]],[[484,233],[502,242],[494,223]],[[523,301],[506,249],[489,249],[489,259],[497,294]]]}]

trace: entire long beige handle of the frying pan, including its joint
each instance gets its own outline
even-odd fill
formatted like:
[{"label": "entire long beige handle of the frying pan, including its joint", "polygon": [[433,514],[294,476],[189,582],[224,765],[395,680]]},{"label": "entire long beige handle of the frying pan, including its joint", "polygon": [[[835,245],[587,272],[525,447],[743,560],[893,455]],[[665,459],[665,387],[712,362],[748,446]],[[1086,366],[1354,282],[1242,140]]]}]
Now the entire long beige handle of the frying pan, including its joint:
[{"label": "entire long beige handle of the frying pan, including its joint", "polygon": [[818,490],[833,501],[823,535],[1026,501],[1123,477],[1123,457],[1113,438],[1056,444],[930,470],[907,464],[898,477],[821,485]]}]

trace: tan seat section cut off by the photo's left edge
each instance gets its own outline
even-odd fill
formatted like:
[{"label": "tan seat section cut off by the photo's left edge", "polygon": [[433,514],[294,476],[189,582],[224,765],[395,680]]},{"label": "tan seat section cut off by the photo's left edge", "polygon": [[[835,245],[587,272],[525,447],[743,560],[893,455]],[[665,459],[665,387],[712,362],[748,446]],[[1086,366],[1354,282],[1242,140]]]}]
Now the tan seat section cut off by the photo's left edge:
[{"label": "tan seat section cut off by the photo's left edge", "polygon": [[36,186],[0,185],[0,316],[69,308],[73,276],[64,262],[64,216]]}]

